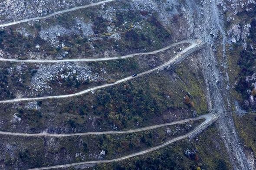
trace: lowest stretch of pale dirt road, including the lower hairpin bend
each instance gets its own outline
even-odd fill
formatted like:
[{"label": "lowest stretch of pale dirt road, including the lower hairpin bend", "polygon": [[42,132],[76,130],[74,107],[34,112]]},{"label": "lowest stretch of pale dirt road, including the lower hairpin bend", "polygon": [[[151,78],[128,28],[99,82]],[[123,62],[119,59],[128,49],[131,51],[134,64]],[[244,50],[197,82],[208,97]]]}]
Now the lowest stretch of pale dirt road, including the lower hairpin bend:
[{"label": "lowest stretch of pale dirt road, including the lower hairpin bend", "polygon": [[147,150],[143,150],[143,151],[137,152],[135,154],[130,154],[130,155],[127,155],[124,157],[119,157],[119,158],[112,159],[112,160],[93,160],[93,161],[85,161],[85,162],[78,162],[78,163],[70,163],[70,164],[65,164],[65,165],[56,165],[56,166],[52,166],[52,167],[40,167],[40,168],[34,168],[34,169],[30,169],[30,170],[49,170],[49,169],[67,168],[67,167],[92,164],[92,163],[111,163],[111,162],[115,162],[115,161],[125,160],[125,159],[135,157],[138,155],[142,155],[142,154],[147,154],[148,152],[158,150],[158,149],[165,147],[165,146],[167,146],[171,143],[174,143],[176,141],[196,135],[196,134],[200,133],[201,131],[203,131],[203,129],[207,128],[210,124],[212,124],[214,121],[216,121],[218,119],[215,114],[205,114],[205,115],[202,115],[201,118],[205,118],[205,121],[202,124],[200,124],[198,127],[196,127],[193,131],[191,131],[185,135],[171,139],[171,140],[165,142],[164,144],[158,145],[156,147],[151,147]]}]

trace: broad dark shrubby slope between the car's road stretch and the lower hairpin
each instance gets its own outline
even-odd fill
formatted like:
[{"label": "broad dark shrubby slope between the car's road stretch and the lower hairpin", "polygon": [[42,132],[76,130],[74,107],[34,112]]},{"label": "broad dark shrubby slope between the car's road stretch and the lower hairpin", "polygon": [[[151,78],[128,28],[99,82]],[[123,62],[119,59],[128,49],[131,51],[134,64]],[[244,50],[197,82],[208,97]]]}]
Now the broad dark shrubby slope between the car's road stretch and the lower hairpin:
[{"label": "broad dark shrubby slope between the car's road stretch and the lower hairpin", "polygon": [[[178,65],[174,70],[179,70],[180,67],[183,67],[183,64]],[[193,73],[193,71],[191,72]],[[191,88],[190,82],[185,81],[185,77],[184,79],[182,77],[182,79],[174,78],[173,74],[175,72],[163,70],[119,85],[99,89],[93,95],[89,93],[72,99],[43,100],[39,106],[41,113],[39,117],[29,118],[30,115],[35,115],[32,114],[33,109],[24,108],[27,102],[20,102],[18,105],[26,113],[22,114],[20,118],[22,120],[30,119],[33,122],[23,121],[16,125],[15,130],[10,126],[10,121],[6,121],[3,129],[23,131],[24,127],[29,125],[31,130],[41,131],[53,127],[59,129],[59,124],[62,124],[62,127],[66,127],[66,131],[73,131],[74,125],[67,121],[73,120],[76,122],[76,131],[84,131],[84,129],[95,131],[96,127],[109,130],[112,125],[120,130],[174,121],[177,119],[177,117],[174,118],[174,114],[182,119],[192,117],[194,110],[198,114],[205,113],[206,109],[201,107],[201,105],[205,105],[201,99],[203,92],[193,92],[194,89]],[[187,77],[190,77],[189,69],[186,74]],[[193,79],[198,86],[202,85],[200,78],[202,77],[196,76]],[[184,91],[184,89],[190,91]],[[195,90],[197,89],[203,89],[203,87],[195,88]],[[184,103],[184,97],[188,92],[190,92],[191,101],[194,102],[194,108]],[[0,112],[5,119],[12,119],[13,115],[9,112],[17,112],[12,105],[1,105]],[[40,128],[37,125],[38,122],[42,125]],[[92,124],[94,125],[92,126]]]}]

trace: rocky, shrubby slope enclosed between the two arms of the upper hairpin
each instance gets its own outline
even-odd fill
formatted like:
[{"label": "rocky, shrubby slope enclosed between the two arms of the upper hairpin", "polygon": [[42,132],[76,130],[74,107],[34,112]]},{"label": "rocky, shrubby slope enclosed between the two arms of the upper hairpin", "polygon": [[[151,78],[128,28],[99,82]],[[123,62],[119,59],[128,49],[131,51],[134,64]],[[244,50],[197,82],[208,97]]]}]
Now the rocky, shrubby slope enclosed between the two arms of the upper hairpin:
[{"label": "rocky, shrubby slope enclosed between the two arms of the upper hairpin", "polygon": [[[51,92],[51,95],[64,95],[67,93],[71,94],[79,92],[98,85],[115,82],[119,79],[131,76],[133,73],[144,72],[163,64],[173,56],[171,53],[172,50],[178,49],[181,46],[183,45],[172,47],[155,55],[134,56],[133,58],[128,59],[109,60],[102,62],[70,63],[72,67],[68,68],[66,67],[68,64],[63,66],[59,63],[43,63],[40,65],[38,63],[0,63],[0,72],[3,73],[1,75],[3,81],[0,84],[0,87],[3,91],[3,99],[16,98],[13,93],[16,93],[17,90],[24,94],[23,97],[45,96],[49,95],[49,91]],[[151,58],[154,59],[153,64],[148,62],[148,60]],[[82,67],[85,67],[85,71],[81,71]],[[51,88],[39,88],[37,90],[34,88],[31,89],[33,83],[32,80],[35,80],[35,78],[38,79],[40,76],[42,76],[42,74],[45,73],[49,75],[49,71],[46,68],[56,68],[56,70],[51,69],[54,71],[51,72],[53,75],[52,78],[48,78],[45,80],[45,82],[43,82],[46,83],[44,85],[47,85]],[[60,68],[62,68],[62,71],[59,71]],[[80,68],[80,70],[73,74],[72,72],[76,68]],[[37,75],[38,72],[39,75]],[[83,75],[83,78],[80,78],[81,75],[79,74],[86,74],[86,72],[88,72],[88,76],[95,75],[98,77],[94,78],[97,80],[92,78],[85,78],[85,75]],[[69,73],[72,74],[67,76]],[[67,78],[61,78],[63,75],[67,76]]]}]

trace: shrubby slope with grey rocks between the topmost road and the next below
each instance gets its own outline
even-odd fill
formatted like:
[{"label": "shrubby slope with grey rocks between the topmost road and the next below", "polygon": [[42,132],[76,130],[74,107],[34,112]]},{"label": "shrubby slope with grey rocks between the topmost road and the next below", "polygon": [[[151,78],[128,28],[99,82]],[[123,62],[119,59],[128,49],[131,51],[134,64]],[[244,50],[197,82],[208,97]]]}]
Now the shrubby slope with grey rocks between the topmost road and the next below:
[{"label": "shrubby slope with grey rocks between the topmost road and the next below", "polygon": [[[102,13],[110,15],[112,19],[102,16]],[[91,27],[93,35],[83,35],[83,31],[88,30],[82,30],[81,24]],[[23,27],[28,35],[24,36],[20,32],[20,27]],[[59,46],[48,42],[49,39],[44,40],[40,37],[40,31],[47,31],[54,27],[65,29],[65,33],[60,36],[50,35],[55,37],[52,38],[59,42]],[[52,30],[49,30],[50,32]],[[118,33],[121,39],[111,37],[115,33]],[[111,56],[122,56],[128,52],[159,49],[170,43],[171,33],[152,13],[131,10],[129,2],[120,1],[112,3],[111,9],[108,6],[104,9],[100,6],[90,7],[86,10],[63,13],[45,21],[40,20],[39,23],[31,25],[21,23],[10,26],[1,30],[0,37],[0,48],[12,55],[17,54],[20,59],[26,59],[27,53],[30,52],[40,52],[56,58],[66,51],[68,52],[66,58],[95,58],[104,57],[105,52]],[[61,48],[62,42],[65,44],[64,48]],[[36,45],[40,47],[36,48]]]}]

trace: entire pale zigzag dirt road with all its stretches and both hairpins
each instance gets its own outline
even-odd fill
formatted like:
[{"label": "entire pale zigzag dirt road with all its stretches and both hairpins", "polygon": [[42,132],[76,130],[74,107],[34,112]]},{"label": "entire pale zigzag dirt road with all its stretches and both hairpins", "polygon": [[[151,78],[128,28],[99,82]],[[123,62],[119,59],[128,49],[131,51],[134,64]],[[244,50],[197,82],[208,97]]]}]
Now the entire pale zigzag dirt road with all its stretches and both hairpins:
[{"label": "entire pale zigzag dirt road with all its stretches and both hairpins", "polygon": [[[35,17],[35,18],[30,18],[30,19],[25,19],[25,20],[20,20],[20,21],[14,21],[14,22],[11,22],[11,23],[4,23],[4,24],[0,24],[0,27],[12,26],[12,25],[15,25],[15,24],[26,23],[26,22],[33,21],[33,20],[43,20],[43,19],[47,19],[47,18],[50,18],[50,17],[55,16],[55,15],[62,14],[62,13],[67,13],[67,12],[74,11],[74,10],[79,10],[79,9],[83,9],[83,8],[87,8],[87,7],[97,6],[97,5],[112,2],[112,1],[114,1],[114,0],[104,0],[104,1],[101,1],[101,2],[98,2],[98,3],[91,3],[91,4],[88,4],[88,5],[85,5],[85,6],[81,6],[81,7],[74,7],[74,8],[58,11],[58,12],[51,13],[49,15],[42,16],[42,17]],[[176,46],[176,45],[179,45],[179,44],[182,44],[182,43],[190,43],[190,46],[188,46],[187,48],[185,48],[184,50],[179,52],[176,56],[174,56],[168,62],[165,62],[164,64],[159,65],[154,69],[150,69],[148,71],[139,73],[136,76],[136,77],[139,77],[139,76],[154,72],[158,69],[163,69],[164,67],[166,67],[168,65],[171,65],[175,62],[180,61],[181,59],[184,59],[184,57],[186,57],[187,54],[189,54],[190,52],[193,52],[198,47],[201,47],[204,43],[201,40],[198,40],[198,39],[197,40],[188,39],[188,40],[184,40],[184,41],[181,41],[181,42],[174,43],[170,46],[164,47],[163,49],[158,49],[158,50],[153,51],[153,52],[141,52],[141,53],[130,54],[130,55],[127,55],[127,56],[100,58],[100,59],[19,60],[19,59],[3,59],[3,58],[0,58],[0,61],[3,61],[3,62],[33,62],[33,63],[107,61],[107,60],[115,60],[115,59],[126,59],[126,58],[130,58],[130,57],[133,57],[133,56],[138,56],[138,55],[155,54],[155,53],[167,50],[167,49],[171,48],[172,46]],[[117,85],[117,84],[120,84],[121,82],[126,82],[126,81],[131,80],[131,79],[136,78],[136,77],[129,76],[129,77],[123,78],[121,80],[118,80],[114,83],[100,85],[100,86],[97,86],[97,87],[94,87],[94,88],[89,88],[87,90],[84,90],[84,91],[81,91],[81,92],[78,92],[78,93],[75,93],[75,94],[71,94],[71,95],[56,95],[56,96],[45,96],[45,97],[38,97],[38,98],[16,98],[16,99],[11,99],[11,100],[0,101],[0,103],[11,103],[11,102],[18,102],[18,101],[34,101],[34,100],[43,100],[43,99],[51,99],[51,98],[69,98],[69,97],[82,95],[82,94],[91,92],[92,90],[97,90],[99,88],[105,88],[105,87],[108,87],[108,86]],[[161,144],[161,145],[156,146],[156,147],[151,147],[147,150],[143,150],[143,151],[140,151],[138,153],[130,154],[130,155],[127,155],[127,156],[124,156],[124,157],[115,158],[115,159],[112,159],[112,160],[85,161],[85,162],[70,163],[70,164],[65,164],[65,165],[56,165],[56,166],[52,166],[52,167],[40,167],[40,168],[30,169],[30,170],[45,170],[45,169],[67,168],[67,167],[73,167],[73,166],[79,166],[79,165],[85,165],[85,164],[92,164],[92,163],[111,163],[111,162],[115,162],[115,161],[125,160],[125,159],[135,157],[135,156],[138,156],[138,155],[142,155],[142,154],[147,154],[148,152],[158,150],[162,147],[165,147],[168,144],[171,144],[171,143],[174,143],[176,141],[185,139],[187,137],[192,137],[192,136],[200,133],[201,131],[203,131],[203,129],[207,128],[210,124],[212,124],[214,121],[216,121],[218,119],[218,117],[215,114],[204,114],[204,115],[201,115],[197,118],[189,118],[189,119],[185,119],[185,120],[182,120],[182,121],[175,121],[175,122],[166,123],[166,124],[153,125],[153,126],[149,126],[149,127],[133,129],[133,130],[128,130],[128,131],[85,132],[85,133],[76,133],[76,134],[48,134],[48,133],[26,134],[26,133],[15,133],[15,132],[0,131],[0,134],[12,135],[12,136],[24,136],[24,137],[29,137],[29,136],[69,137],[69,136],[80,136],[80,135],[125,134],[125,133],[134,133],[134,132],[146,131],[146,130],[155,129],[155,128],[158,128],[158,127],[164,127],[164,126],[168,126],[168,125],[182,124],[182,123],[185,123],[187,121],[199,120],[199,119],[205,119],[205,121],[202,124],[200,124],[199,126],[197,126],[193,131],[190,131],[189,133],[187,133],[185,135],[182,135],[182,136],[176,137],[174,139],[171,139],[171,140],[165,142],[164,144]]]}]

